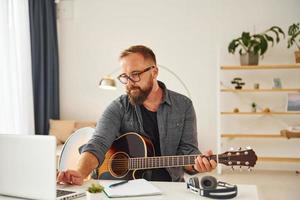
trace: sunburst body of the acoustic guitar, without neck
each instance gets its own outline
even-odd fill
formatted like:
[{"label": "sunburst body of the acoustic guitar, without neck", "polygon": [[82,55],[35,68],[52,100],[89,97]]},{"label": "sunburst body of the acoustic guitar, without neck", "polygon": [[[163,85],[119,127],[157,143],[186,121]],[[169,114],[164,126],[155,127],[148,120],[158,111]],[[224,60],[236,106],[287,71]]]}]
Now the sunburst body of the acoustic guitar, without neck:
[{"label": "sunburst body of the acoustic guitar, without neck", "polygon": [[126,133],[117,138],[105,154],[98,169],[98,179],[137,179],[145,170],[129,170],[129,158],[155,156],[154,146],[147,138],[137,133]]}]

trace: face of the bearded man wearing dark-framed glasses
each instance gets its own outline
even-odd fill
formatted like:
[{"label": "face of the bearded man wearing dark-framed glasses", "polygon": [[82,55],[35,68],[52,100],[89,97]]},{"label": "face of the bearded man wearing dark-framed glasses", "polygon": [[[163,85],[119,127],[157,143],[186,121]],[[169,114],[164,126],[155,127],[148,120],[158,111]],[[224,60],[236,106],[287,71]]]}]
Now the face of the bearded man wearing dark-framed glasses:
[{"label": "face of the bearded man wearing dark-framed glasses", "polygon": [[154,64],[150,61],[146,61],[144,57],[138,53],[129,54],[122,58],[120,64],[123,75],[129,77],[139,76],[140,78],[138,82],[128,79],[127,84],[125,84],[130,103],[132,105],[143,104],[152,91],[154,77],[156,76],[152,68],[140,75],[138,74]]}]

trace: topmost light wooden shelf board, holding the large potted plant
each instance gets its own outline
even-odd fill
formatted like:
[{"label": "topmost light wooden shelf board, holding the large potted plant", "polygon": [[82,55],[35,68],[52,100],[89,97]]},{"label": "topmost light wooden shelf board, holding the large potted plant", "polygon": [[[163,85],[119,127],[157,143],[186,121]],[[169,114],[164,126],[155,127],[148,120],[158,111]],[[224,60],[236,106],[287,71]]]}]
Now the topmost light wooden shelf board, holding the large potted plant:
[{"label": "topmost light wooden shelf board, holding the large potted plant", "polygon": [[245,66],[221,66],[221,70],[274,70],[274,69],[300,69],[300,64],[277,65],[245,65]]}]

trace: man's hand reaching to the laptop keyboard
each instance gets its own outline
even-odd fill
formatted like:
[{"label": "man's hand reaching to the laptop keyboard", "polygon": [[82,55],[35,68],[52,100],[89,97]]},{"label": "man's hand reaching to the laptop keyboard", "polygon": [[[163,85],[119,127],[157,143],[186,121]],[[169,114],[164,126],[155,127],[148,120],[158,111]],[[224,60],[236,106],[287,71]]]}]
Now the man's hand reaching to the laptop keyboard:
[{"label": "man's hand reaching to the laptop keyboard", "polygon": [[59,184],[71,184],[71,185],[82,185],[83,176],[79,171],[67,170],[58,172],[56,182]]}]

